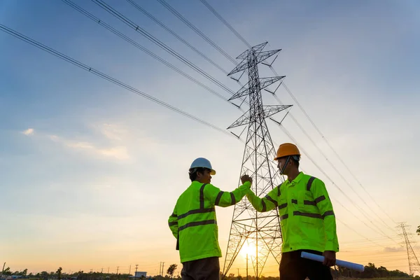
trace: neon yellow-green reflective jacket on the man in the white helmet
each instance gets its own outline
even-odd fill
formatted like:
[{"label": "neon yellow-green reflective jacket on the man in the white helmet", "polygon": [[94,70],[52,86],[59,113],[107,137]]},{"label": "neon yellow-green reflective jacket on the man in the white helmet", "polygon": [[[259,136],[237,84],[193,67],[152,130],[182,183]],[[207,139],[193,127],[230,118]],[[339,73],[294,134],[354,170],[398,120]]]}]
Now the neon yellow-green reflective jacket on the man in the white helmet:
[{"label": "neon yellow-green reflective jacket on the man in the white helmet", "polygon": [[177,239],[181,262],[221,257],[215,206],[228,207],[241,201],[251,187],[245,182],[232,192],[193,181],[176,201],[169,228]]}]

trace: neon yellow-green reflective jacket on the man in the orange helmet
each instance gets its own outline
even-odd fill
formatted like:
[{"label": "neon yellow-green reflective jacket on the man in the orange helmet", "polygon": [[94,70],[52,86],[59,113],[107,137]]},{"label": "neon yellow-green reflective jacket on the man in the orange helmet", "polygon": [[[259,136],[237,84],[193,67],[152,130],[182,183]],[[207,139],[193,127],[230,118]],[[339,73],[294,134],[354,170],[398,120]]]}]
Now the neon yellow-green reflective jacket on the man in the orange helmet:
[{"label": "neon yellow-green reflective jacket on the man in the orange helmet", "polygon": [[339,251],[334,211],[320,179],[300,172],[292,182],[284,181],[263,198],[252,191],[246,197],[260,212],[278,207],[281,251]]}]

